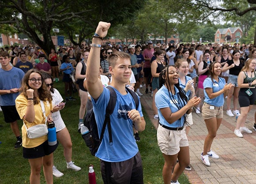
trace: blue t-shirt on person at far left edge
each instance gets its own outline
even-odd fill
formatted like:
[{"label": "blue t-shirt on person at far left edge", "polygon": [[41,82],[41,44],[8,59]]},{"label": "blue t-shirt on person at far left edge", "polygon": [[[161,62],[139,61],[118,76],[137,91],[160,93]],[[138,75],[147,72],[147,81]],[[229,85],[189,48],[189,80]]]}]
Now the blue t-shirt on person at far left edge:
[{"label": "blue t-shirt on person at far left edge", "polygon": [[[0,68],[0,90],[11,90],[13,88],[20,88],[24,75],[25,73],[19,68],[12,67],[9,71],[5,71]],[[15,105],[15,99],[18,96],[19,93],[2,94],[0,95],[0,105]]]}]

